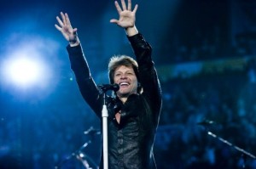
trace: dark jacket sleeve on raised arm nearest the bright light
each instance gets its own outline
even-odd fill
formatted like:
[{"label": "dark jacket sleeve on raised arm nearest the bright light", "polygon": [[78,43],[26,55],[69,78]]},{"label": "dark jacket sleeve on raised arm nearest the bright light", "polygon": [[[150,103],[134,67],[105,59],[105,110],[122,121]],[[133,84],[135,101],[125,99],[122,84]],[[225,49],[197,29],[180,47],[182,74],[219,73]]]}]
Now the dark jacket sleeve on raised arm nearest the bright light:
[{"label": "dark jacket sleeve on raised arm nearest the bright light", "polygon": [[67,53],[69,56],[71,69],[76,77],[80,93],[85,102],[89,104],[90,108],[101,116],[102,99],[96,87],[96,83],[90,74],[90,69],[87,60],[84,57],[84,52],[81,45],[76,47],[67,46]]}]

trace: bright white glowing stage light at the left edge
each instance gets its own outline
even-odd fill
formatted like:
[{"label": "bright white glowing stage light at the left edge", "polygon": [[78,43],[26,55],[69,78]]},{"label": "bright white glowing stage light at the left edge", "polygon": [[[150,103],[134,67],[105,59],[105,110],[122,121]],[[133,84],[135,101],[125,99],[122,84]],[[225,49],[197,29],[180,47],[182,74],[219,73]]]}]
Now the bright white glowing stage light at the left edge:
[{"label": "bright white glowing stage light at the left edge", "polygon": [[37,49],[22,47],[9,53],[1,65],[2,83],[22,89],[46,87],[49,68]]}]

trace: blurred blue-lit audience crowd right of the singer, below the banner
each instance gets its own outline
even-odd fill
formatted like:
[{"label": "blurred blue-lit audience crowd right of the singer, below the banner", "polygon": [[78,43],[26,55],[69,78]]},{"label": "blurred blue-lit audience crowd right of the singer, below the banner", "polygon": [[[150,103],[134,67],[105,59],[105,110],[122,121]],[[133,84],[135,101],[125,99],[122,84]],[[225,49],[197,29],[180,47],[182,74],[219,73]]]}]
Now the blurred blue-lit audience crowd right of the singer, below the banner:
[{"label": "blurred blue-lit audience crowd right of the singer, below the banner", "polygon": [[160,168],[256,168],[256,66],[249,67],[165,83]]}]

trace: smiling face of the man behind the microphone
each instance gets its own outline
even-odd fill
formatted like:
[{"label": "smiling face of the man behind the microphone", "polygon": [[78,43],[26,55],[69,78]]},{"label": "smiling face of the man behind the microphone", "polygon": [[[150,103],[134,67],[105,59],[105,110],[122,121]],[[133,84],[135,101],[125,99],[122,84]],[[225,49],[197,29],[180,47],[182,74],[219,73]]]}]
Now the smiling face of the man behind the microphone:
[{"label": "smiling face of the man behind the microphone", "polygon": [[119,84],[119,97],[128,97],[137,93],[137,76],[132,67],[120,65],[113,73],[113,82]]}]

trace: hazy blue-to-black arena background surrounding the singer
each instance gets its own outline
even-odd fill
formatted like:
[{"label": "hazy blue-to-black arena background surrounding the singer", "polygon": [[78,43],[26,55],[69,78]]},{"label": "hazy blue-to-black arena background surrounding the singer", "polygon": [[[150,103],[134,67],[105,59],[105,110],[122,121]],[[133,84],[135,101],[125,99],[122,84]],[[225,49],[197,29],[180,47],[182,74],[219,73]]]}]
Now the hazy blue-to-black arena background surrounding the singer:
[{"label": "hazy blue-to-black arena background surrounding the singer", "polygon": [[[101,138],[84,131],[99,129],[99,120],[79,93],[67,42],[54,25],[61,11],[69,14],[92,75],[97,83],[108,83],[108,59],[113,54],[133,55],[124,30],[109,23],[118,17],[113,1],[0,3],[0,64],[12,52],[32,48],[50,72],[44,74],[49,77],[44,87],[23,90],[7,85],[1,76],[0,168],[54,168],[61,161],[60,168],[84,168],[70,155],[89,140],[82,152],[95,168]],[[256,2],[135,3],[137,28],[153,47],[163,90],[154,146],[158,168],[256,168]],[[201,121],[212,123],[199,125]]]}]

